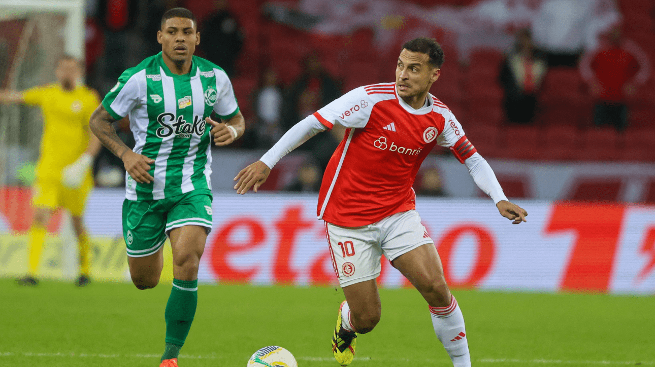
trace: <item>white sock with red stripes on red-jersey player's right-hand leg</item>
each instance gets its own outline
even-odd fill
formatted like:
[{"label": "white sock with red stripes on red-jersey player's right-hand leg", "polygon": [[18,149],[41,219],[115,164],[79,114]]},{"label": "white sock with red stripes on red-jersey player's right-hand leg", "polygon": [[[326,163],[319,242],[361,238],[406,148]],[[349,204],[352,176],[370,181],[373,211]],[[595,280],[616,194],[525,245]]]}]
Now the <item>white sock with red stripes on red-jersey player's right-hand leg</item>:
[{"label": "white sock with red stripes on red-jersey player's right-hand leg", "polygon": [[455,367],[470,367],[471,357],[468,353],[466,328],[462,310],[457,306],[455,296],[447,307],[430,307],[434,334],[443,344]]}]

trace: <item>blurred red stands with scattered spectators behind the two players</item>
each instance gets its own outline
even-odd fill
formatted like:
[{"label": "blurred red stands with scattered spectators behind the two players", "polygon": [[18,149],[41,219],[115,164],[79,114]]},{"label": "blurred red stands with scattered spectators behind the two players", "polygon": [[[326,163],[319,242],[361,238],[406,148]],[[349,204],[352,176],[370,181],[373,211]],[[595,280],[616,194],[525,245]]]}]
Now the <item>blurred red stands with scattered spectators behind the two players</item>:
[{"label": "blurred red stands with scattered spectators behind the two players", "polygon": [[[196,54],[233,81],[247,124],[240,149],[268,149],[348,90],[392,80],[398,47],[421,33],[446,55],[432,93],[483,156],[655,160],[649,0],[88,0],[88,84],[103,95],[159,52],[160,16],[178,6],[198,17]],[[129,142],[128,124],[119,128]],[[301,147],[310,158],[289,190],[318,189],[343,133]],[[96,172],[120,164],[105,152]],[[426,169],[418,191],[445,194],[435,176]]]}]

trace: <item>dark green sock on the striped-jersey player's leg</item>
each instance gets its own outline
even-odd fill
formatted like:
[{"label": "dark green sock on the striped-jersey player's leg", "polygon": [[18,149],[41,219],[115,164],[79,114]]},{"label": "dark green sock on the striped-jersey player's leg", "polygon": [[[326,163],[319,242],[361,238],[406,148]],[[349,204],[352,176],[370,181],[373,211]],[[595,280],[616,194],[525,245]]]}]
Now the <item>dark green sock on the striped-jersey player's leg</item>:
[{"label": "dark green sock on the striped-jersey player's leg", "polygon": [[198,279],[173,279],[173,288],[166,303],[166,350],[162,360],[178,358],[179,349],[187,339],[198,305]]}]

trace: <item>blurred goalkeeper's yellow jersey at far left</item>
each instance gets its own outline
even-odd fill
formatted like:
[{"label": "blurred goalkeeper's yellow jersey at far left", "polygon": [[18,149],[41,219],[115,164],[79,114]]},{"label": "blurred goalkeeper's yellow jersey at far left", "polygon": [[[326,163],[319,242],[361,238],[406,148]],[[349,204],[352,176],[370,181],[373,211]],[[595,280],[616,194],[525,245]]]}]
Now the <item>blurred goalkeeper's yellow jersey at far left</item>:
[{"label": "blurred goalkeeper's yellow jersey at far left", "polygon": [[27,105],[39,105],[43,114],[36,175],[39,179],[59,181],[62,169],[86,150],[88,121],[100,105],[98,94],[86,86],[67,91],[60,84],[48,84],[22,92],[22,101]]}]

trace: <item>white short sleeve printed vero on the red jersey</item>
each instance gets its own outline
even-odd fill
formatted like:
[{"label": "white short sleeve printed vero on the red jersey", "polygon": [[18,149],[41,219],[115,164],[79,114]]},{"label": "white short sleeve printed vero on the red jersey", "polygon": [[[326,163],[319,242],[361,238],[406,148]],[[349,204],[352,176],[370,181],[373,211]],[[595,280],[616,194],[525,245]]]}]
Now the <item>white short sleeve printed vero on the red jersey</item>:
[{"label": "white short sleeve printed vero on the red jersey", "polygon": [[345,128],[364,128],[374,104],[364,87],[359,87],[327,103],[313,116],[328,129],[335,124]]}]

